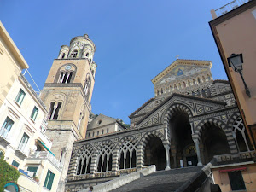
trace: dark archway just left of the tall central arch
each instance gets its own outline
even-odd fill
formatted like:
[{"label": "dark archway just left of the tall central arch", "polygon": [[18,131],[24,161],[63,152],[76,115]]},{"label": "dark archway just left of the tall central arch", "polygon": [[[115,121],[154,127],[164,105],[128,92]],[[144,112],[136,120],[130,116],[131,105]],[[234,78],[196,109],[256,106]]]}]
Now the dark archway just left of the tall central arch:
[{"label": "dark archway just left of the tall central arch", "polygon": [[166,168],[166,151],[161,139],[149,135],[145,143],[144,166],[155,165],[157,171],[164,170]]}]

